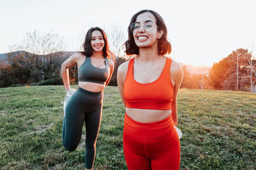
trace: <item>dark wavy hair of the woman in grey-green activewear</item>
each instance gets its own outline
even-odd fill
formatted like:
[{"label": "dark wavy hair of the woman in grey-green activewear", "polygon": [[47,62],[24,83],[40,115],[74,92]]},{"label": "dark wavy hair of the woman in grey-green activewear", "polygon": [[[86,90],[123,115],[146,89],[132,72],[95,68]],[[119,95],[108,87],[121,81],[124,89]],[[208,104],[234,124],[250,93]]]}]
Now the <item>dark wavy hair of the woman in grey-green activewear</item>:
[{"label": "dark wavy hair of the woman in grey-green activewear", "polygon": [[111,55],[113,55],[113,53],[111,53],[111,51],[109,49],[108,39],[107,39],[106,33],[103,31],[103,29],[101,29],[99,27],[92,27],[87,31],[85,39],[84,39],[84,43],[82,45],[84,51],[80,52],[80,53],[83,53],[83,55],[85,55],[87,57],[92,56],[93,48],[92,48],[92,45],[91,45],[91,41],[92,41],[92,32],[93,31],[100,31],[101,32],[102,37],[104,39],[104,47],[102,49],[103,56],[107,57],[108,59],[111,59]]}]

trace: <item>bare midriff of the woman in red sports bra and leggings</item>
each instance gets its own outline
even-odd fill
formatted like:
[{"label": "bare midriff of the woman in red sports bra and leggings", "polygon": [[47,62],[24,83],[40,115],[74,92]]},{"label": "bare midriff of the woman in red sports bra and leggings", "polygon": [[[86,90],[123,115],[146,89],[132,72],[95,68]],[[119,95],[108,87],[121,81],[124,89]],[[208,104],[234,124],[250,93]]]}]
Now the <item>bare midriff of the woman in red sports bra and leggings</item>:
[{"label": "bare midriff of the woman in red sports bra and leggings", "polygon": [[125,112],[133,120],[141,123],[157,122],[169,117],[172,113],[171,110],[144,110],[134,108],[125,108]]}]

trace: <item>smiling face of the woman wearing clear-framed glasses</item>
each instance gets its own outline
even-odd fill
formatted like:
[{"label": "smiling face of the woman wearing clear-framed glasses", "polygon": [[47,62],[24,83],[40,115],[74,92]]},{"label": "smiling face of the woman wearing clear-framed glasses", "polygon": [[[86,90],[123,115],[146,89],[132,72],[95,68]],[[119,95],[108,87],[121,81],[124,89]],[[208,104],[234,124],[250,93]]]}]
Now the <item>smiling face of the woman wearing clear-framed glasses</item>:
[{"label": "smiling face of the woman wearing clear-framed glasses", "polygon": [[[154,15],[150,12],[141,13],[136,18],[136,23],[140,24],[138,31],[133,32],[133,38],[136,45],[139,48],[146,48],[157,44],[157,39],[161,38],[162,31],[157,31],[156,18]],[[154,23],[154,26],[150,31],[147,31],[148,23]]]}]

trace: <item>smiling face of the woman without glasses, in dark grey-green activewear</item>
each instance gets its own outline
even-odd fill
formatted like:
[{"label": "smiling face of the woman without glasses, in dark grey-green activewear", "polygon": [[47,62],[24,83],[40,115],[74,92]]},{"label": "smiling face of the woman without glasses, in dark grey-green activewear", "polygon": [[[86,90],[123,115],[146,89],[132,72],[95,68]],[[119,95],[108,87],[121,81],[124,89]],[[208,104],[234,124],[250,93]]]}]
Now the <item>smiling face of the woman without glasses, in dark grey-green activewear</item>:
[{"label": "smiling face of the woman without glasses, in dark grey-green activewear", "polygon": [[100,31],[95,30],[92,32],[91,45],[92,45],[93,51],[95,52],[102,51],[105,45],[105,42]]}]

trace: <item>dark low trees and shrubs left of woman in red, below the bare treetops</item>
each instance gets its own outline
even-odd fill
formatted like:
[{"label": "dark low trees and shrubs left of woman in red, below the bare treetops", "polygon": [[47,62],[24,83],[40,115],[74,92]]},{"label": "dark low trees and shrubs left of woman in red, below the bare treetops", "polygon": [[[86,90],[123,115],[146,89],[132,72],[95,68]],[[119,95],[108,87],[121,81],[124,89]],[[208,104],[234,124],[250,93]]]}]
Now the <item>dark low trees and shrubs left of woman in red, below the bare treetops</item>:
[{"label": "dark low trees and shrubs left of woman in red, below the bare treetops", "polygon": [[[57,52],[47,55],[18,51],[8,53],[8,63],[0,69],[0,87],[22,85],[63,85],[61,64],[75,52]],[[117,85],[116,72],[125,58],[116,57],[115,71],[109,85]],[[70,83],[77,84],[77,66],[69,69]]]}]

